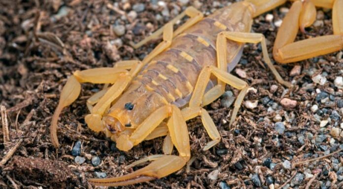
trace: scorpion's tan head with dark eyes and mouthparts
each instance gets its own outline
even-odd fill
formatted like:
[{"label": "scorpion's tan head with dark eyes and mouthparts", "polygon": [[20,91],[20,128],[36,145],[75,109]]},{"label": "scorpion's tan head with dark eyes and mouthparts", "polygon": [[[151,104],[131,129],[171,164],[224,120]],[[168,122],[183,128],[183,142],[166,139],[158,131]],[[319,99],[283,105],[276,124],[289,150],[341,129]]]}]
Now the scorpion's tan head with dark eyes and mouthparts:
[{"label": "scorpion's tan head with dark eyes and mouthparts", "polygon": [[158,94],[141,88],[129,88],[103,116],[106,133],[117,142],[120,150],[127,151],[133,147],[129,136],[153,111],[164,105]]}]

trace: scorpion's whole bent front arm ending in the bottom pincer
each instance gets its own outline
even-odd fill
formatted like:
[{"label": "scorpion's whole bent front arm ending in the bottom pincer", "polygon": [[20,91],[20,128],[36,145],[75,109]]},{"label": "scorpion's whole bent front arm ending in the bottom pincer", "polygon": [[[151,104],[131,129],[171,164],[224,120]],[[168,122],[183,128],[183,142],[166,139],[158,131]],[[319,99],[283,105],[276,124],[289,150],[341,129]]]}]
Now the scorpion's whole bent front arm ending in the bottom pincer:
[{"label": "scorpion's whole bent front arm ending in the bottom pincer", "polygon": [[[156,122],[162,122],[163,119],[160,118],[171,116],[167,125],[171,135],[171,141],[178,150],[179,156],[162,155],[160,158],[156,156],[154,158],[147,158],[146,161],[151,159],[154,161],[135,172],[115,178],[89,179],[90,183],[101,186],[131,185],[165,177],[175,171],[180,170],[186,164],[186,162],[190,159],[190,145],[187,125],[180,109],[174,105],[167,105],[156,111],[158,111],[157,113],[159,114],[163,114],[163,116],[153,113],[155,114],[154,117],[159,116],[158,119],[155,119],[153,125],[156,125]],[[146,135],[148,135],[146,133],[151,132],[150,128],[147,128],[146,126],[143,127],[144,129],[141,129],[139,133],[136,134],[141,135],[138,136],[139,138],[144,138]]]}]

